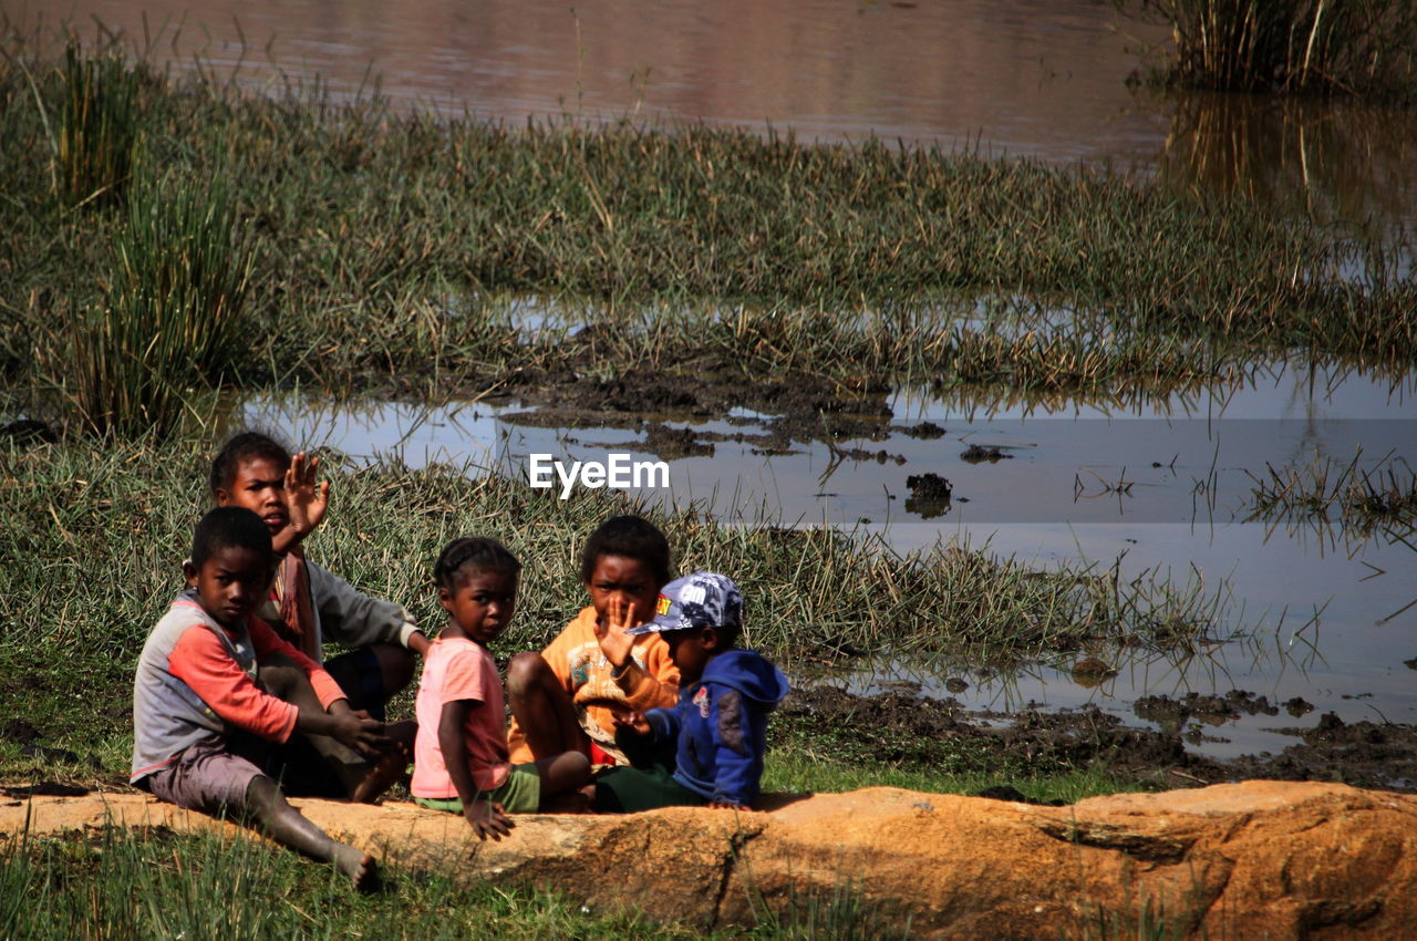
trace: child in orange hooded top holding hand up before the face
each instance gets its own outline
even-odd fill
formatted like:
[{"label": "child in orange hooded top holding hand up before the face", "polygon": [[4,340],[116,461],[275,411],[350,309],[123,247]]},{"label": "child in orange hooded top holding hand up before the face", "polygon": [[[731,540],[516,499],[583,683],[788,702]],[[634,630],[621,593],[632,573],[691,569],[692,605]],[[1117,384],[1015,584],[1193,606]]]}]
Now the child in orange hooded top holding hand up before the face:
[{"label": "child in orange hooded top holding hand up before the face", "polygon": [[[595,764],[625,764],[615,710],[673,706],[679,692],[679,670],[659,635],[623,631],[649,619],[666,581],[669,541],[653,523],[616,516],[591,533],[581,553],[591,605],[541,653],[519,653],[507,665],[513,761],[581,751]],[[622,626],[608,619],[616,602],[628,615]]]}]

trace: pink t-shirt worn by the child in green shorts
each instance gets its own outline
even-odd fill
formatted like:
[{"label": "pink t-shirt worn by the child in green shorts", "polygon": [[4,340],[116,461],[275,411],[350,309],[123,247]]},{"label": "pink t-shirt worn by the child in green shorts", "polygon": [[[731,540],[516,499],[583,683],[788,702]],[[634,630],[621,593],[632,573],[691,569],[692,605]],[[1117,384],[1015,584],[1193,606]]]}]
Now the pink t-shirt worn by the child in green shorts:
[{"label": "pink t-shirt worn by the child in green shorts", "polygon": [[507,761],[506,706],[502,677],[492,653],[466,638],[439,638],[424,660],[414,711],[418,738],[414,741],[414,781],[410,789],[418,798],[455,798],[458,788],[448,777],[448,764],[438,745],[438,721],[445,703],[473,700],[463,724],[468,754],[455,757],[472,768],[479,791],[500,788],[512,762]]}]

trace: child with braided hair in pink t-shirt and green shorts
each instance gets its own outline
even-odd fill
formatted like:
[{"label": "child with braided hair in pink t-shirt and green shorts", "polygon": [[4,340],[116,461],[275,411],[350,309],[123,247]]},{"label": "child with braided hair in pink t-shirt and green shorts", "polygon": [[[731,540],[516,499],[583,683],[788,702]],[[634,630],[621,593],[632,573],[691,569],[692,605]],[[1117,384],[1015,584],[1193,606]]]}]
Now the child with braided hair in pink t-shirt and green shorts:
[{"label": "child with braided hair in pink t-shirt and green shorts", "polygon": [[479,839],[502,839],[513,826],[509,813],[534,813],[591,774],[580,751],[507,760],[502,679],[487,643],[512,622],[520,571],[492,539],[453,540],[434,567],[449,621],[424,662],[410,789],[427,808],[462,813]]}]

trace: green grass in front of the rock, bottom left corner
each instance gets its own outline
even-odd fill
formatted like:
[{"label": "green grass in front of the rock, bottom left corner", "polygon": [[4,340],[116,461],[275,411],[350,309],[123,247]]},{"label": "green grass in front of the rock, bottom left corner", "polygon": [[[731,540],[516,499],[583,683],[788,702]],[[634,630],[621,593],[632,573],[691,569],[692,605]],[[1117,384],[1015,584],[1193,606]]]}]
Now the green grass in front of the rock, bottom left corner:
[{"label": "green grass in front of the rock, bottom left corner", "polygon": [[[252,839],[105,828],[0,845],[7,941],[315,938],[696,938],[632,911],[589,913],[534,889],[469,884],[456,872],[387,867],[359,897],[327,866]],[[764,938],[786,937],[772,932]]]}]

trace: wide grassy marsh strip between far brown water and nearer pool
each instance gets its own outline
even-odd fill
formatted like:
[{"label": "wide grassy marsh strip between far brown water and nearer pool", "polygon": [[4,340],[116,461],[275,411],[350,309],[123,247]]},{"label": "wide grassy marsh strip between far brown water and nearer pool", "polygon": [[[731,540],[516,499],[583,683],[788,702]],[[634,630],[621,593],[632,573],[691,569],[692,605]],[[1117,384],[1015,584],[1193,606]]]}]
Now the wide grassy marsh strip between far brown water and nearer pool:
[{"label": "wide grassy marsh strip between far brown water and nearer pool", "polygon": [[[130,64],[136,101],[115,111],[135,132],[102,146],[132,152],[132,180],[75,198],[57,188],[54,129],[75,79],[20,38],[9,52],[11,385],[68,388],[81,371],[82,347],[52,325],[118,310],[112,245],[132,227],[122,204],[145,198],[137,183],[213,177],[230,181],[252,252],[249,340],[228,373],[188,371],[187,387],[445,394],[506,388],[529,366],[713,361],[845,387],[1115,391],[1195,385],[1258,356],[1397,371],[1417,356],[1410,276],[1332,232],[1243,197],[934,147],[507,128],[316,94],[245,98]],[[509,313],[529,296],[537,329]]]}]

